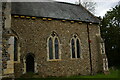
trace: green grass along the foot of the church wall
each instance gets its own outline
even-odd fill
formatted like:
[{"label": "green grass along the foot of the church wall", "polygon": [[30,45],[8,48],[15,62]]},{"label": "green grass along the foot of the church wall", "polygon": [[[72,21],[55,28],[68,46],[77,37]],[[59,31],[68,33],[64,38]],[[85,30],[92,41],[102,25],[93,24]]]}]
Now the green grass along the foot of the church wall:
[{"label": "green grass along the foot of the church wall", "polygon": [[[31,75],[32,76],[32,75]],[[63,80],[63,79],[102,79],[102,78],[109,78],[109,80],[111,79],[120,79],[120,69],[116,69],[116,70],[110,70],[110,73],[105,75],[103,73],[99,73],[97,75],[92,75],[92,76],[70,76],[70,77],[49,77],[49,78],[19,78],[16,80]]]}]

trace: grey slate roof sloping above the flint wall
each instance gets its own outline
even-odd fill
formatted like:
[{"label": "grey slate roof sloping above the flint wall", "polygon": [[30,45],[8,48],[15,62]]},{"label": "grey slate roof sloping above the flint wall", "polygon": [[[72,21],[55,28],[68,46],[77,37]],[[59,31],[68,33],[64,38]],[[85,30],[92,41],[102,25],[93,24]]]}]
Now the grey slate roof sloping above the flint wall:
[{"label": "grey slate roof sloping above the flint wall", "polygon": [[12,14],[99,23],[81,5],[61,2],[13,2]]}]

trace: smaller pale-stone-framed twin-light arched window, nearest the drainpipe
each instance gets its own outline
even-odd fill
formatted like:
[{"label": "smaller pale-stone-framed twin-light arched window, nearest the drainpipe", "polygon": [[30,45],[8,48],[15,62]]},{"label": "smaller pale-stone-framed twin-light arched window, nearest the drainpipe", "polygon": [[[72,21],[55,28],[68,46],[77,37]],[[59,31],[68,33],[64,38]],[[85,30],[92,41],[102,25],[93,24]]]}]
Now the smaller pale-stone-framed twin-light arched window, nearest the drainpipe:
[{"label": "smaller pale-stone-framed twin-light arched window, nearest the drainpipe", "polygon": [[72,35],[70,40],[71,58],[81,58],[81,43],[76,34]]}]

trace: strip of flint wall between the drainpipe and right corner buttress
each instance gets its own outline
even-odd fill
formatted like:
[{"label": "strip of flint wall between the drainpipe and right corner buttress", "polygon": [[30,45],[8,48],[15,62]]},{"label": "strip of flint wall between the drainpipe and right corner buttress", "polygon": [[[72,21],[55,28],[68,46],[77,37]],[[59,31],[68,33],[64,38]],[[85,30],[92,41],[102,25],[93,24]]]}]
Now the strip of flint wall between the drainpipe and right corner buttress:
[{"label": "strip of flint wall between the drainpipe and right corner buttress", "polygon": [[92,72],[93,74],[100,72],[102,69],[102,55],[100,52],[99,43],[96,35],[100,35],[100,28],[97,25],[89,25],[90,32],[90,46],[91,46],[91,58],[92,58]]}]

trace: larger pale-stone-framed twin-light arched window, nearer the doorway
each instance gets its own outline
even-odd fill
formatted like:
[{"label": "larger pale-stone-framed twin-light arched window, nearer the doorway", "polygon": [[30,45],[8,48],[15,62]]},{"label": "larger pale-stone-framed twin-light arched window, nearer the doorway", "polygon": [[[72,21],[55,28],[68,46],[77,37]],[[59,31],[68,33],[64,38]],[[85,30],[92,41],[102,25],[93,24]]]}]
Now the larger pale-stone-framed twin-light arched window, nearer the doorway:
[{"label": "larger pale-stone-framed twin-light arched window, nearer the doorway", "polygon": [[61,59],[60,41],[56,32],[52,32],[47,39],[47,60]]}]

